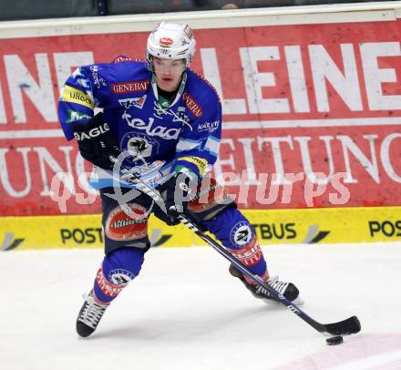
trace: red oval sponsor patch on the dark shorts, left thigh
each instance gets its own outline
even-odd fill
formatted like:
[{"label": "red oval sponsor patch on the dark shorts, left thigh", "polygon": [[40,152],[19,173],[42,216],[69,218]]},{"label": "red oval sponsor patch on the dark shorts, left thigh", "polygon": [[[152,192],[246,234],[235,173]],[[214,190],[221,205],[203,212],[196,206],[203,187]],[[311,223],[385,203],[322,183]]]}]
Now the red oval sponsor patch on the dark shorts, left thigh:
[{"label": "red oval sponsor patch on the dark shorts, left thigh", "polygon": [[148,235],[148,215],[139,204],[124,204],[108,214],[105,225],[108,239],[131,241]]}]

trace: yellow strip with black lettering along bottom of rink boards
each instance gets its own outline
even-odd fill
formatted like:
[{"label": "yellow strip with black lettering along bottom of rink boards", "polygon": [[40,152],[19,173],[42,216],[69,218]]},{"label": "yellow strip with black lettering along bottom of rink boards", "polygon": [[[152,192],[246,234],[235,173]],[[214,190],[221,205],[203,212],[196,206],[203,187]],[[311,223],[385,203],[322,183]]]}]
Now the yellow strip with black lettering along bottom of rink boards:
[{"label": "yellow strip with black lettering along bottom of rink boards", "polygon": [[[244,211],[261,244],[396,242],[401,238],[401,207]],[[153,247],[204,243],[185,226],[149,220]],[[0,221],[0,250],[100,248],[101,216],[5,217]]]}]

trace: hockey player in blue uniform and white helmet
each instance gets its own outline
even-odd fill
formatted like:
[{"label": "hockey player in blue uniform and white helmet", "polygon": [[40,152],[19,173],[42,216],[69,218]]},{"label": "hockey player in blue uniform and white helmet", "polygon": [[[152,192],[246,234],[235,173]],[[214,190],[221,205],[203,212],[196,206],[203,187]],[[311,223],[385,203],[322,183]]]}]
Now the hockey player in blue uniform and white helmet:
[{"label": "hockey player in blue uniform and white helmet", "polygon": [[[251,224],[211,179],[221,103],[213,87],[189,69],[194,52],[189,26],[162,22],[149,35],[145,61],[118,57],[111,64],[78,67],[63,89],[59,119],[66,138],[75,138],[82,157],[94,165],[91,185],[100,190],[105,234],[104,260],[77,317],[82,337],[96,330],[108,304],[138,276],[150,246],[150,212],[171,225],[178,223],[177,210],[184,211],[279,293],[291,301],[298,297],[293,283],[270,277]],[[94,108],[103,112],[94,116]],[[118,191],[110,155],[159,190],[166,208],[123,179],[121,196],[113,196]],[[233,266],[229,270],[257,298],[272,300]]]}]

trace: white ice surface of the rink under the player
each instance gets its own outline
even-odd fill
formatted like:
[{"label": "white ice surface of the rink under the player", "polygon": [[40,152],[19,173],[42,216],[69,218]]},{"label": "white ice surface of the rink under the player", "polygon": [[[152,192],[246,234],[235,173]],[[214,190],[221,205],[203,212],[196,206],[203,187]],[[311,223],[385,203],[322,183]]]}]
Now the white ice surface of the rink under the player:
[{"label": "white ice surface of the rink under the player", "polygon": [[401,245],[263,247],[321,323],[356,314],[328,346],[279,304],[256,300],[209,247],[151,249],[86,340],[75,332],[100,250],[0,253],[0,369],[401,369]]}]

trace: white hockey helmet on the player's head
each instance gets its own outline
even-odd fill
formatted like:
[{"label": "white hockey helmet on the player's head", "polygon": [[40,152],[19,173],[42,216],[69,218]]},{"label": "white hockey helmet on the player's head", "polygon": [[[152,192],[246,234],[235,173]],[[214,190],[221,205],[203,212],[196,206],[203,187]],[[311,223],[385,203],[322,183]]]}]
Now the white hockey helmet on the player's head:
[{"label": "white hockey helmet on the player's head", "polygon": [[152,57],[185,59],[185,67],[190,67],[195,45],[190,26],[161,22],[148,37],[145,57],[149,70],[153,71]]}]

